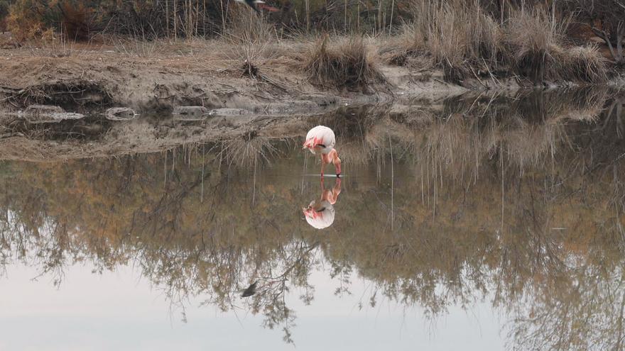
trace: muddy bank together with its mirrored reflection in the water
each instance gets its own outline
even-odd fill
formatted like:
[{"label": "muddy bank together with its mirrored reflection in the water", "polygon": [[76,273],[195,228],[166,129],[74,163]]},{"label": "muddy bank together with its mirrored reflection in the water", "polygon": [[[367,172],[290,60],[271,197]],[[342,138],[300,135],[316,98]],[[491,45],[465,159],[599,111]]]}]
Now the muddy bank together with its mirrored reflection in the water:
[{"label": "muddy bank together with its mirrored reflection in the water", "polygon": [[[149,58],[111,48],[76,49],[64,57],[0,50],[5,59],[0,159],[51,161],[224,140],[300,138],[315,123],[337,119],[357,120],[354,126],[393,121],[413,128],[450,113],[483,117],[487,111],[475,115],[475,108],[505,110],[536,90],[516,79],[467,79],[461,87],[445,82],[436,69],[381,63],[383,79],[366,89],[322,87],[310,84],[290,48],[257,61],[252,77],[249,65],[244,69],[219,45],[168,47]],[[609,94],[607,88],[597,91],[584,89],[575,93],[581,99],[565,96],[558,104],[581,101],[598,116],[597,106],[608,104]],[[529,105],[545,104],[532,99]],[[450,104],[460,110],[450,111]]]}]

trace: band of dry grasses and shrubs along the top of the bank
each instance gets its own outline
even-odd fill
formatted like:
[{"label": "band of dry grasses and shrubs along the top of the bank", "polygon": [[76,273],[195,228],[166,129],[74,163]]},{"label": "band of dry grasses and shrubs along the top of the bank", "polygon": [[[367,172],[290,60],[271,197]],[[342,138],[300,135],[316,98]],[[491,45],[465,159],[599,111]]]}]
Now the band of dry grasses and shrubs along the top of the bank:
[{"label": "band of dry grasses and shrubs along the top of the bank", "polygon": [[[0,2],[13,38],[28,47],[55,47],[53,56],[72,55],[74,40],[146,58],[163,45],[184,45],[180,38],[218,40],[229,45],[227,58],[244,77],[265,82],[266,63],[280,55],[312,84],[362,91],[386,81],[381,63],[413,72],[441,69],[447,82],[487,88],[511,79],[603,84],[618,63],[596,43],[570,38],[570,23],[580,19],[575,1],[557,9],[550,1],[509,1],[504,9],[489,0],[275,0],[280,11],[261,15],[225,0]],[[621,51],[614,44],[614,55]]]}]

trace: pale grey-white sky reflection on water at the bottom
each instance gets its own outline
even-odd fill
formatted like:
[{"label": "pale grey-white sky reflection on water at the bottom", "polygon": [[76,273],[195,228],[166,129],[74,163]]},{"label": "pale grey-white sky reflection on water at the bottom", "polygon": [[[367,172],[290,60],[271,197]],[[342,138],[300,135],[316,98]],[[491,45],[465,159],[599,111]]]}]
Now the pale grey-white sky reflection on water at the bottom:
[{"label": "pale grey-white sky reflection on water at the bottom", "polygon": [[[188,323],[139,272],[119,266],[116,272],[93,274],[92,267],[67,267],[56,288],[48,277],[23,265],[7,267],[0,280],[0,350],[293,350],[280,330],[261,327],[261,316],[243,310],[222,313],[188,301]],[[288,295],[298,315],[296,350],[501,350],[499,321],[489,303],[469,311],[450,307],[435,323],[420,308],[379,301],[358,308],[369,282],[354,279],[352,295],[335,296],[339,284],[327,273],[310,277],[315,301],[305,306],[298,291]],[[242,302],[242,301],[241,301]]]}]

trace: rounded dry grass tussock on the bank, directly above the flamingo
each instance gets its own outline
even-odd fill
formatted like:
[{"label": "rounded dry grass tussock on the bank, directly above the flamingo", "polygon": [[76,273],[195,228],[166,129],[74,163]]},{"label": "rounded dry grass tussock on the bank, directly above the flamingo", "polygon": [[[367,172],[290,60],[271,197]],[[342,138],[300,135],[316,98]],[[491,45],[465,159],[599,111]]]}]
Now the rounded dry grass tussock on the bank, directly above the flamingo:
[{"label": "rounded dry grass tussock on the bank, directly above the flamingo", "polygon": [[310,82],[366,89],[383,80],[362,37],[338,38],[333,43],[328,43],[328,39],[326,35],[318,40],[308,52],[304,69]]}]

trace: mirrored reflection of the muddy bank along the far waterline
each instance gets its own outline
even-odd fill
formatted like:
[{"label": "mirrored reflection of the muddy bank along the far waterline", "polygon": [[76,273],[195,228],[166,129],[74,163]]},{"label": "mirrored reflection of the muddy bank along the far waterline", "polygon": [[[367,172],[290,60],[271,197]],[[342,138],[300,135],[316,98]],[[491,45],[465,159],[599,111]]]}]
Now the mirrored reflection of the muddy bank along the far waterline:
[{"label": "mirrored reflection of the muddy bank along the far waterline", "polygon": [[411,143],[420,143],[417,135],[430,132],[449,134],[450,140],[456,140],[470,131],[457,126],[470,122],[474,126],[497,126],[499,133],[513,135],[525,145],[534,143],[537,130],[559,135],[558,128],[569,123],[600,128],[604,121],[621,121],[624,107],[622,94],[586,89],[519,91],[513,96],[467,93],[437,102],[423,99],[410,104],[342,106],[325,113],[290,116],[219,114],[236,110],[199,106],[177,108],[178,113],[167,115],[141,116],[114,108],[60,121],[42,113],[36,123],[17,115],[2,127],[0,160],[53,162],[158,152],[180,145],[255,149],[273,140],[292,140],[293,145],[299,145],[308,129],[317,124],[334,129],[341,140],[342,155],[351,152],[351,158],[357,160],[362,158],[357,154],[364,152],[365,144],[376,147],[378,141],[371,139],[371,135],[379,134],[375,130],[392,130],[403,139],[413,140]]}]

